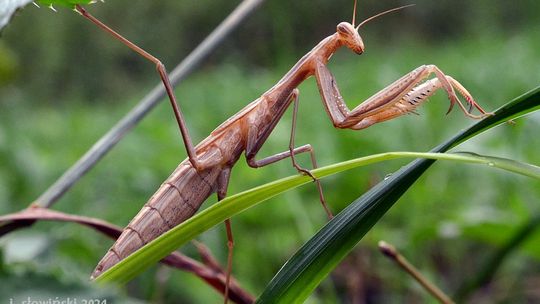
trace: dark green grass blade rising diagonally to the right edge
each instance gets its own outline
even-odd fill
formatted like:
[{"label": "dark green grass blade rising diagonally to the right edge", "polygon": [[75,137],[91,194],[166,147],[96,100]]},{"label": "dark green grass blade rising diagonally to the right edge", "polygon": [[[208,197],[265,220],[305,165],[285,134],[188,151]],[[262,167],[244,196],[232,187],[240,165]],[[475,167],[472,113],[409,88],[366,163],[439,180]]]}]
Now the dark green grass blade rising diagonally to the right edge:
[{"label": "dark green grass blade rising diagonally to the right edge", "polygon": [[[459,132],[431,152],[446,152],[483,131],[538,108],[540,87],[510,101],[494,116]],[[303,302],[434,161],[411,162],[351,203],[287,261],[257,302]]]}]

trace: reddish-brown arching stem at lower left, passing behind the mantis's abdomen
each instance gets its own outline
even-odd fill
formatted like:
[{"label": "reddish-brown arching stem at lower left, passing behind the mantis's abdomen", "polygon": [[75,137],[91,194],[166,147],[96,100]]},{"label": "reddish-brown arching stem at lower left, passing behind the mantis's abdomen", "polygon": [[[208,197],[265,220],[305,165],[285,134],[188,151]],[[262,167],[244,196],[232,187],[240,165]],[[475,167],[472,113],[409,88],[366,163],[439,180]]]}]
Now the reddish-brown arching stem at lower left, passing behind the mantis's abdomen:
[{"label": "reddish-brown arching stem at lower left, passing behind the mantis's abdomen", "polygon": [[[39,206],[32,206],[17,213],[0,216],[0,225],[2,224],[17,224],[42,221],[61,221],[77,223],[90,227],[101,232],[112,239],[116,239],[122,233],[122,228],[110,224],[106,221],[91,217],[66,214]],[[3,228],[4,226],[0,226]],[[20,226],[19,226],[20,227]],[[199,248],[199,246],[197,246]],[[206,247],[204,247],[206,248]],[[225,290],[225,275],[223,269],[219,267],[210,251],[205,249],[205,259],[213,261],[211,266],[204,265],[190,257],[187,257],[179,252],[173,252],[161,260],[161,263],[168,266],[191,272],[197,277],[207,282],[210,286],[223,293]],[[253,303],[254,298],[247,291],[242,289],[236,280],[232,280],[229,286],[229,299],[236,303]]]}]

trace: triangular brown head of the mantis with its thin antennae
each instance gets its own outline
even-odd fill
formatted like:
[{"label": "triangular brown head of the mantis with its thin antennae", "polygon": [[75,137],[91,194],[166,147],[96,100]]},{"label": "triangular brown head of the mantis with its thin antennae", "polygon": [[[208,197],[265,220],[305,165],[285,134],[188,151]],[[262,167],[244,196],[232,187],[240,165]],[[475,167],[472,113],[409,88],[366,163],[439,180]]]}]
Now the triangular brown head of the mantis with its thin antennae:
[{"label": "triangular brown head of the mantis with its thin antennae", "polygon": [[338,39],[340,40],[342,45],[348,47],[353,52],[360,55],[360,54],[362,54],[364,52],[364,41],[362,40],[362,37],[360,37],[360,34],[358,32],[358,30],[360,29],[360,27],[362,25],[365,25],[369,21],[371,21],[371,20],[373,20],[375,18],[378,18],[378,17],[380,17],[382,15],[385,15],[385,14],[388,14],[390,12],[394,12],[394,11],[397,11],[397,10],[401,10],[401,9],[404,9],[406,7],[413,6],[413,5],[414,4],[404,5],[404,6],[392,8],[392,9],[386,10],[384,12],[378,13],[378,14],[376,14],[374,16],[371,16],[371,17],[367,18],[366,20],[360,22],[360,24],[358,24],[358,26],[355,27],[355,25],[354,25],[355,19],[356,19],[356,0],[355,0],[354,1],[352,24],[348,23],[348,22],[341,22],[340,24],[338,24],[338,26],[337,26]]}]

